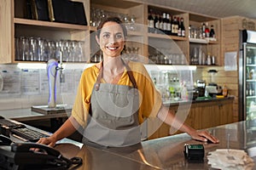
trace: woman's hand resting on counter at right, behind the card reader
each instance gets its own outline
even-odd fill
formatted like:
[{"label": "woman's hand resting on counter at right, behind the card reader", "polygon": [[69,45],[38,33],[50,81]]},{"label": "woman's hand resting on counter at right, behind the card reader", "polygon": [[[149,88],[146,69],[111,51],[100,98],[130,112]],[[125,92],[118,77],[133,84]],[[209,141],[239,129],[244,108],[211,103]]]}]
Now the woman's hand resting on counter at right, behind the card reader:
[{"label": "woman's hand resting on counter at right, behind the card reader", "polygon": [[192,139],[201,140],[202,142],[207,142],[208,140],[210,140],[213,144],[219,143],[219,140],[216,137],[212,136],[212,134],[208,131],[193,130],[191,133],[189,133],[189,135],[192,137]]}]

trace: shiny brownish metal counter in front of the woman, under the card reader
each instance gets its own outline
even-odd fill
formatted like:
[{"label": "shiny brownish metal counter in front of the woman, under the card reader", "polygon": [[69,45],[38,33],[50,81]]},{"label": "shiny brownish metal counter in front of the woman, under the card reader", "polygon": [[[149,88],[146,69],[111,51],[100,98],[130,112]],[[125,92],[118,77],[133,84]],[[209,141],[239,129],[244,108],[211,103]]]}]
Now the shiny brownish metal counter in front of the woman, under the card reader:
[{"label": "shiny brownish metal counter in front of the woman, under the card reader", "polygon": [[[131,169],[211,169],[207,165],[207,153],[227,148],[230,134],[230,149],[250,150],[249,156],[256,162],[256,131],[251,122],[236,122],[210,128],[209,131],[220,139],[219,144],[207,144],[191,140],[186,133],[144,141],[126,148],[96,149],[84,145],[81,149],[73,144],[57,144],[55,149],[64,156],[80,156],[84,160],[79,169],[93,170],[131,170]],[[183,156],[184,144],[204,144],[204,162],[188,162]],[[254,167],[253,169],[256,169]]]}]

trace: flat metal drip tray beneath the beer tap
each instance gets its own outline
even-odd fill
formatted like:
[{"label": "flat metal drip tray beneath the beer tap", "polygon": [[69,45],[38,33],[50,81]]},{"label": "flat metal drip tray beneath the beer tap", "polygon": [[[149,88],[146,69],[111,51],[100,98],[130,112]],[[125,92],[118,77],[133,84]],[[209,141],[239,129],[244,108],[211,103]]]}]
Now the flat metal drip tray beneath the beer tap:
[{"label": "flat metal drip tray beneath the beer tap", "polygon": [[32,106],[31,111],[42,113],[44,115],[58,114],[58,113],[70,113],[72,111],[71,105],[56,105],[54,108],[49,108],[48,105],[36,105]]}]

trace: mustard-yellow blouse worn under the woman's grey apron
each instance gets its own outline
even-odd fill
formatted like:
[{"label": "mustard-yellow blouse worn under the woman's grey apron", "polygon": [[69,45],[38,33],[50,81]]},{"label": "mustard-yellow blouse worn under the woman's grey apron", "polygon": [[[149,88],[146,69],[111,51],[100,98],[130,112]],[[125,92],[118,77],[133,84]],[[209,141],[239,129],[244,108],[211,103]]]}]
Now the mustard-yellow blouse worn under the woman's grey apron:
[{"label": "mustard-yellow blouse worn under the woman's grey apron", "polygon": [[[130,61],[128,65],[130,66],[133,77],[137,82],[137,88],[140,94],[142,94],[140,95],[141,105],[138,111],[139,122],[142,123],[144,118],[148,116],[157,116],[162,105],[162,100],[160,93],[156,88],[154,88],[154,84],[144,65],[132,61]],[[90,96],[98,74],[99,69],[96,65],[93,65],[84,70],[79,82],[72,115],[83,127],[85,127],[87,116],[89,115]],[[127,70],[125,70],[123,75],[120,77],[118,84],[132,86]]]}]

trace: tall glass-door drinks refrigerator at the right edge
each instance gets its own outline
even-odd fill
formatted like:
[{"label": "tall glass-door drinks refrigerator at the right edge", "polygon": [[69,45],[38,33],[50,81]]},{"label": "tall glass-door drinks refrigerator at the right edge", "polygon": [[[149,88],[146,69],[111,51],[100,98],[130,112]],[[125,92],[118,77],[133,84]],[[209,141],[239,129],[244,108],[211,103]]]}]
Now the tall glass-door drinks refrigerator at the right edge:
[{"label": "tall glass-door drinks refrigerator at the right edge", "polygon": [[240,121],[247,120],[245,144],[250,147],[256,139],[256,31],[240,34],[239,114]]}]

